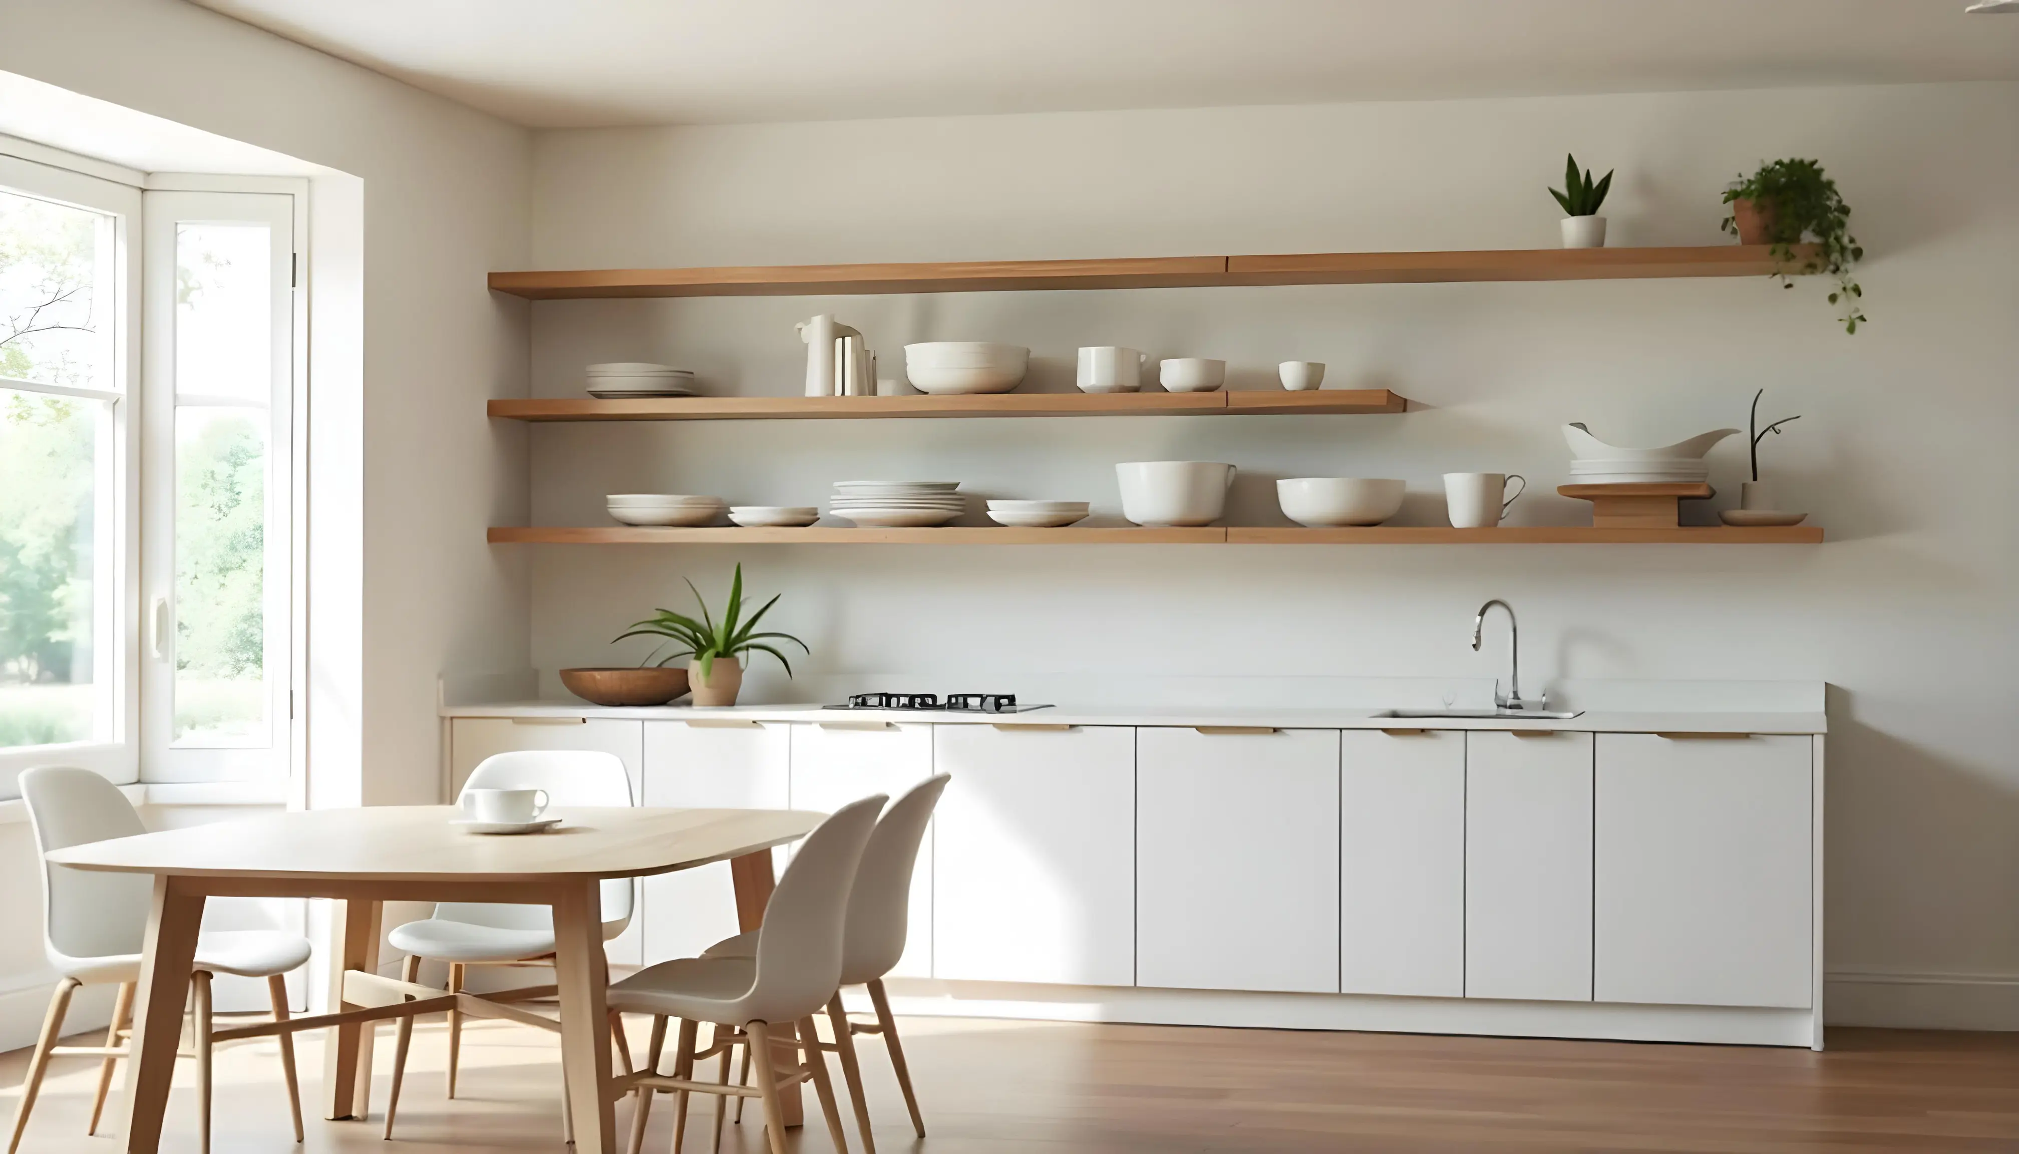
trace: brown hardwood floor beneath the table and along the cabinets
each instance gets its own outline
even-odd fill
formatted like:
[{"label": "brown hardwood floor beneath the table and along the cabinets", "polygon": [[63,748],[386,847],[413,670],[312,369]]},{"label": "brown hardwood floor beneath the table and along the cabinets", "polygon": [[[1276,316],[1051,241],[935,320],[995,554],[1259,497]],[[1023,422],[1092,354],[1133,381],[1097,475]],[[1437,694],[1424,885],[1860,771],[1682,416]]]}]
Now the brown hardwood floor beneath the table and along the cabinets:
[{"label": "brown hardwood floor beneath the table and along the cabinets", "polygon": [[[967,1019],[905,1019],[902,1029],[931,1136],[913,1138],[882,1043],[862,1039],[876,1146],[886,1154],[2019,1150],[2019,1035],[1831,1031],[1831,1049],[1809,1053]],[[644,1037],[632,1029],[640,1047]],[[299,1051],[303,1079],[319,1079],[323,1049],[305,1039]],[[390,1031],[376,1055],[371,1101],[382,1118]],[[551,1035],[509,1023],[464,1027],[454,1101],[442,1097],[444,1059],[442,1023],[424,1021],[390,1146],[376,1124],[321,1120],[295,1146],[273,1043],[224,1045],[214,1148],[563,1150]],[[22,1065],[24,1051],[0,1057],[8,1087],[0,1118],[12,1120]],[[713,1077],[713,1061],[701,1073]],[[83,1059],[50,1071],[24,1152],[119,1148],[85,1138],[95,1075],[97,1061]],[[618,1112],[624,1134],[630,1110]],[[707,1150],[711,1112],[711,1101],[695,1105],[686,1150]],[[652,1112],[648,1152],[668,1150],[672,1114],[670,1103]],[[759,1154],[759,1114],[727,1126],[723,1150]],[[812,1120],[793,1132],[793,1148],[830,1150]],[[860,1150],[852,1128],[850,1146]],[[196,1150],[188,1063],[178,1069],[162,1150]]]}]

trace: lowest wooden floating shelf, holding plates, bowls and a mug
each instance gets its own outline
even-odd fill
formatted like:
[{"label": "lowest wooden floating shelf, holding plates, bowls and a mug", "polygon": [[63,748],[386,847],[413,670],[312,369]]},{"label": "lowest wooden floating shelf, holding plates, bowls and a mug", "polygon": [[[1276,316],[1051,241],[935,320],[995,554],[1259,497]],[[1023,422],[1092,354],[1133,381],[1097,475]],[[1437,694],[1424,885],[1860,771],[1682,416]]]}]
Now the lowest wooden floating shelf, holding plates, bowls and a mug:
[{"label": "lowest wooden floating shelf, holding plates, bowls and a mug", "polygon": [[658,530],[608,527],[493,527],[491,544],[549,546],[1815,546],[1823,530],[1702,525],[1680,530],[1597,530],[1589,525],[1502,525],[1494,530],[1452,530],[1442,525],[1373,525],[1365,530],[1221,527],[1137,530],[1064,527],[1005,530],[953,525],[939,530],[846,530],[814,525],[806,530]]}]

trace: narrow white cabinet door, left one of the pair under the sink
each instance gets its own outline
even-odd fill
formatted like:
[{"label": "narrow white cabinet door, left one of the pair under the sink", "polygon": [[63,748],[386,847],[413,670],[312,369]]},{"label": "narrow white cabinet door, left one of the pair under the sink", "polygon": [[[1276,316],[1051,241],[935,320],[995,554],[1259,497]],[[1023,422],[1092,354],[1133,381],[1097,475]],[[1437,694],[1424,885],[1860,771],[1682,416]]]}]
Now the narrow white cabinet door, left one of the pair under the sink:
[{"label": "narrow white cabinet door, left one of the pair under the sink", "polygon": [[1339,736],[1339,988],[1466,992],[1466,736]]}]

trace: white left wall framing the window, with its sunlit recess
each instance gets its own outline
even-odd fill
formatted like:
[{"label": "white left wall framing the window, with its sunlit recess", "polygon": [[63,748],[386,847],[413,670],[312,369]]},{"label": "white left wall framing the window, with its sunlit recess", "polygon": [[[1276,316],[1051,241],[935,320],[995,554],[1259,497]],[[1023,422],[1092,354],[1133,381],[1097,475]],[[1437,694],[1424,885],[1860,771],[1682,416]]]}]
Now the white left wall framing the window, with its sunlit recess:
[{"label": "white left wall framing the window, with its sunlit recess", "polygon": [[[525,511],[525,435],[483,400],[525,392],[527,309],[485,273],[527,259],[529,133],[180,0],[8,4],[4,28],[0,71],[347,174],[311,192],[311,566],[331,578],[311,598],[311,784],[317,804],[434,800],[436,675],[527,655],[525,558],[483,540]],[[91,152],[89,123],[63,127]],[[131,160],[182,156],[157,143]],[[329,228],[359,216],[361,249]],[[52,980],[32,861],[28,827],[0,825],[0,920],[24,930],[0,946],[0,1049],[32,1041]]]}]

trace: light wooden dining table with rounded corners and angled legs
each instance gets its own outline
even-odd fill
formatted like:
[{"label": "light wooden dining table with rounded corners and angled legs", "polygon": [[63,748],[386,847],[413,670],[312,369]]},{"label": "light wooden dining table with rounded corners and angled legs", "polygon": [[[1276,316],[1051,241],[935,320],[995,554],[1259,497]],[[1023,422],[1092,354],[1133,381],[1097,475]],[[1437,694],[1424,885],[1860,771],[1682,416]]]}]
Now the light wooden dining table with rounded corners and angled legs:
[{"label": "light wooden dining table with rounded corners and angled legs", "polygon": [[[824,814],[737,808],[553,808],[561,825],[485,837],[450,825],[456,806],[299,810],[77,845],[50,863],[151,873],[133,1041],[125,1079],[127,1154],[155,1154],[176,1067],[196,934],[210,897],[329,897],[329,1013],[216,1031],[218,1041],[329,1029],[323,1101],[331,1120],[363,1118],[378,1023],[450,1008],[529,1019],[483,994],[454,994],[378,974],[386,901],[551,905],[561,1069],[577,1154],[612,1154],[616,1091],[600,883],[727,861],[743,930],[763,922],[771,847],[806,837]],[[798,1122],[798,1093],[787,1101]]]}]

